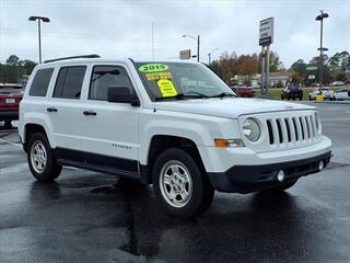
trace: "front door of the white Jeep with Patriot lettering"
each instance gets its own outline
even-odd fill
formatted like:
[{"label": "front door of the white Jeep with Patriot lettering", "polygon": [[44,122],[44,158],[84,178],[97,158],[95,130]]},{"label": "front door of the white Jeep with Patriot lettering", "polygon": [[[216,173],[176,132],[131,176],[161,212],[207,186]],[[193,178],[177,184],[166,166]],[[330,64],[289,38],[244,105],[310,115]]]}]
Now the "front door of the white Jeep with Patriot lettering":
[{"label": "front door of the white Jeep with Patriot lettering", "polygon": [[139,173],[139,112],[130,103],[107,101],[109,87],[124,87],[136,94],[124,65],[95,65],[85,95],[82,144],[88,164]]}]

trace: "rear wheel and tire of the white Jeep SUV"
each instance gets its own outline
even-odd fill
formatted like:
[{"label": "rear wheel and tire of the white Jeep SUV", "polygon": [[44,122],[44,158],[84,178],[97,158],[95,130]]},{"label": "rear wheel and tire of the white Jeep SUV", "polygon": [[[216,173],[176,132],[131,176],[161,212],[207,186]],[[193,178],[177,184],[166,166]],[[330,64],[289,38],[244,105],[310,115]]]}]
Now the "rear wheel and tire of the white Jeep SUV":
[{"label": "rear wheel and tire of the white Jeep SUV", "polygon": [[52,182],[62,167],[56,162],[50,145],[43,133],[35,133],[28,140],[27,161],[33,176],[43,183]]}]

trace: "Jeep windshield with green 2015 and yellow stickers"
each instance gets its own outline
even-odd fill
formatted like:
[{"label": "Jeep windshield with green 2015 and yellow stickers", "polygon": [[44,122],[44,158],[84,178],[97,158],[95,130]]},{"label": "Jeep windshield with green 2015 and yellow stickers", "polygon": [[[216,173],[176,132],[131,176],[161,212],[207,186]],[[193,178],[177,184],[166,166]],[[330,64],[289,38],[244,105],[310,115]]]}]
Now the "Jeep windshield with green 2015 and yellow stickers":
[{"label": "Jeep windshield with green 2015 and yellow stickers", "polygon": [[190,99],[235,95],[214,72],[200,64],[136,62],[136,69],[152,100],[179,98],[178,94],[188,94]]}]

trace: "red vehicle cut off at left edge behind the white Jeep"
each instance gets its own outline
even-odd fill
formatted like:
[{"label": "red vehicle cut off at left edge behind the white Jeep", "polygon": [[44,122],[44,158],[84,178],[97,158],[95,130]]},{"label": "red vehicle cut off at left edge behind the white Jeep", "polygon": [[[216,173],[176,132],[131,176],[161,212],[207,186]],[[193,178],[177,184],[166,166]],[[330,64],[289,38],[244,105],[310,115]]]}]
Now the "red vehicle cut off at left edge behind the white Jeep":
[{"label": "red vehicle cut off at left edge behind the white Jeep", "polygon": [[19,105],[23,98],[23,85],[0,83],[0,122],[11,126],[11,122],[19,119]]}]

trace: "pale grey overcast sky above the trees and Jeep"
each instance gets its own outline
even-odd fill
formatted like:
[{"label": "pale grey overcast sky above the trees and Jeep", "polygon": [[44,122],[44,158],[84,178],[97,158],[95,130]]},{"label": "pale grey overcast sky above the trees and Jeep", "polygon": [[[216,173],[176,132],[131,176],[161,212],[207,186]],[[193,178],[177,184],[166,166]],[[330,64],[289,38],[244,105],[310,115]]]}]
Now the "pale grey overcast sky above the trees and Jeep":
[{"label": "pale grey overcast sky above the trees and Jeep", "polygon": [[259,21],[275,18],[275,43],[285,67],[317,55],[319,10],[328,55],[350,52],[350,1],[347,0],[235,0],[235,1],[112,1],[112,0],[0,0],[0,61],[11,54],[38,60],[37,24],[30,15],[48,16],[42,26],[43,58],[100,54],[105,58],[152,59],[152,22],[155,59],[175,59],[180,49],[196,54],[197,44],[182,35],[200,35],[201,61],[208,53],[252,54],[258,46]]}]

